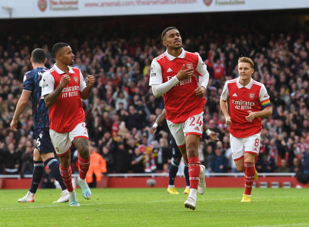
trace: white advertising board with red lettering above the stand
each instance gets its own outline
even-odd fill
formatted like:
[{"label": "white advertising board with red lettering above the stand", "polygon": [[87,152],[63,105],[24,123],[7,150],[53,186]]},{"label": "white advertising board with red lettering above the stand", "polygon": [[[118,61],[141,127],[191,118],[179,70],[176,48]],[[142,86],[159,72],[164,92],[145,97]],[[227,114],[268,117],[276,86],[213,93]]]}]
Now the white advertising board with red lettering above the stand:
[{"label": "white advertising board with red lettering above the stand", "polygon": [[309,0],[10,0],[0,19],[307,9]]}]

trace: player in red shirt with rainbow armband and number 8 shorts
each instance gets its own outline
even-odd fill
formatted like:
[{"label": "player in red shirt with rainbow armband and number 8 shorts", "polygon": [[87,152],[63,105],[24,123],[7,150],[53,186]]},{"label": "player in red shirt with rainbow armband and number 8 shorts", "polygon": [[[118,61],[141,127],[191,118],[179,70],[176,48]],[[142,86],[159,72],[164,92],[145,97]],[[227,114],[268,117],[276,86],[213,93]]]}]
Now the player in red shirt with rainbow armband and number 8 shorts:
[{"label": "player in red shirt with rainbow armband and number 8 shorts", "polygon": [[264,84],[251,78],[253,68],[250,58],[239,58],[239,77],[226,81],[220,99],[225,122],[230,126],[230,142],[236,168],[239,172],[245,172],[245,191],[241,202],[251,201],[253,181],[258,178],[254,159],[260,151],[261,118],[266,118],[273,112]]}]

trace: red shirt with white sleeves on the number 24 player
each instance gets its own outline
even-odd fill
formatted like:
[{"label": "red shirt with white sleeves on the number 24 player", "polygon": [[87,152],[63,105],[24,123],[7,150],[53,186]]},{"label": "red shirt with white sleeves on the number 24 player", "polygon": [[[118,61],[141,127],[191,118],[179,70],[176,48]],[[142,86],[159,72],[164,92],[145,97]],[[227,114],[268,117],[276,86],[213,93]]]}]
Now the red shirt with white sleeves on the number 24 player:
[{"label": "red shirt with white sleeves on the number 24 player", "polygon": [[167,51],[151,63],[149,85],[162,84],[172,79],[181,70],[193,68],[194,74],[188,79],[180,81],[163,96],[164,107],[166,108],[166,119],[174,124],[181,124],[189,117],[203,111],[206,103],[204,97],[196,97],[194,90],[198,87],[195,75],[207,73],[207,67],[202,62],[198,53],[191,53],[182,50],[182,53],[175,58]]}]

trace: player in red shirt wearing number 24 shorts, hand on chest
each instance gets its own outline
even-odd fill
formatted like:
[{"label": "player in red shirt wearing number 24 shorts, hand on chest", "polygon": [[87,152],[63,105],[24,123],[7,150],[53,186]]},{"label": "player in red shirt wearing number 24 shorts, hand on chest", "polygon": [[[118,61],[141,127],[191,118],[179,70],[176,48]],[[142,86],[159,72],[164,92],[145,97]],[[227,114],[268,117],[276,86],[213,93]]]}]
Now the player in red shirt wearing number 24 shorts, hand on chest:
[{"label": "player in red shirt wearing number 24 shorts, hand on chest", "polygon": [[[190,193],[186,208],[195,209],[196,192],[205,191],[205,167],[198,158],[202,134],[204,93],[209,81],[206,65],[198,53],[182,48],[180,32],[168,27],[162,32],[167,50],[153,59],[149,85],[155,97],[164,97],[166,120],[184,161],[189,166]],[[199,85],[196,75],[199,76]]]}]

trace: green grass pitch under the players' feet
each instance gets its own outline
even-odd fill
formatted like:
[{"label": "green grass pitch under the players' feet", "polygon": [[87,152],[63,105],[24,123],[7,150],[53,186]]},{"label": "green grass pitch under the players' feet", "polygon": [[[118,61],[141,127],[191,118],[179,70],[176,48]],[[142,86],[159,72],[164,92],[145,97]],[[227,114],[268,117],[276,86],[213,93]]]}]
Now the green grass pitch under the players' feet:
[{"label": "green grass pitch under the players' feet", "polygon": [[[183,189],[179,189],[182,192]],[[196,210],[186,195],[166,189],[92,189],[80,207],[55,204],[61,191],[39,189],[34,203],[18,203],[27,190],[0,190],[0,226],[309,226],[309,189],[253,189],[241,203],[241,188],[208,188]]]}]

